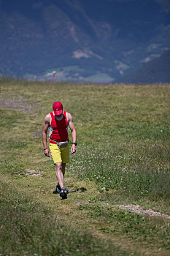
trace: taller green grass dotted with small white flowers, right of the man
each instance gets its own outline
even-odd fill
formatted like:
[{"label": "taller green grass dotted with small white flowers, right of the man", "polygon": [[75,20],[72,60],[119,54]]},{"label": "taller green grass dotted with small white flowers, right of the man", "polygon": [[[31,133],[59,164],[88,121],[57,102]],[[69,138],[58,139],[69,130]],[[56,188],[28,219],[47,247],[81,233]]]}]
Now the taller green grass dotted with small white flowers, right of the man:
[{"label": "taller green grass dotted with small white flowers, right of the man", "polygon": [[169,200],[169,148],[153,145],[139,150],[125,146],[112,148],[112,152],[109,148],[112,145],[100,145],[96,150],[83,145],[81,157],[75,157],[72,164],[74,173],[95,181],[101,190],[116,189],[136,198]]}]

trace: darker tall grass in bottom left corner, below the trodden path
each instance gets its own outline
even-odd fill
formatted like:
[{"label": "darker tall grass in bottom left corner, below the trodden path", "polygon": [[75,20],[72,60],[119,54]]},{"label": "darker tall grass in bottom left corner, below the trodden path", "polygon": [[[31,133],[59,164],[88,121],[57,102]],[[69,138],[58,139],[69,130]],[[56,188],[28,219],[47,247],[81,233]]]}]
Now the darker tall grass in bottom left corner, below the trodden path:
[{"label": "darker tall grass in bottom left corner, below the trodden path", "polygon": [[109,243],[103,247],[88,232],[64,225],[48,208],[11,184],[1,184],[0,235],[1,255],[110,255],[114,249],[110,251]]}]

